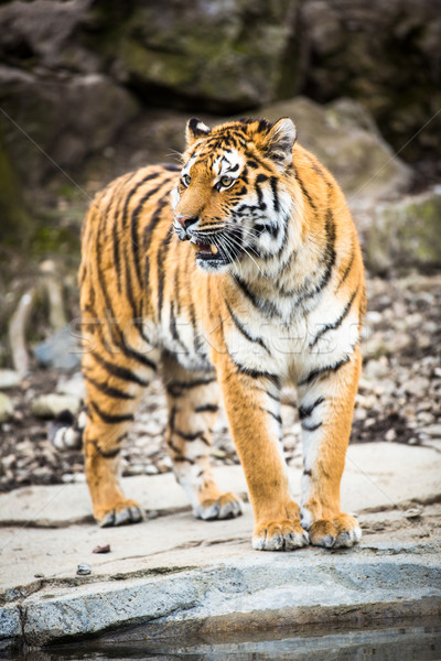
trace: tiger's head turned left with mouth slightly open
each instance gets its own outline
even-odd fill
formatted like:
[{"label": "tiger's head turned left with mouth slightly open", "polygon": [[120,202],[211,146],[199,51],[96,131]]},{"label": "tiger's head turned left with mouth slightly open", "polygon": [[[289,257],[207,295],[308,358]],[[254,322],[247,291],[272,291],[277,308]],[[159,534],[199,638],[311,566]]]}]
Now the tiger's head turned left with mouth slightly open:
[{"label": "tiger's head turned left with mouth slightly open", "polygon": [[191,119],[186,139],[172,207],[176,235],[191,242],[197,266],[220,272],[277,254],[292,213],[293,122],[245,119],[209,129]]}]

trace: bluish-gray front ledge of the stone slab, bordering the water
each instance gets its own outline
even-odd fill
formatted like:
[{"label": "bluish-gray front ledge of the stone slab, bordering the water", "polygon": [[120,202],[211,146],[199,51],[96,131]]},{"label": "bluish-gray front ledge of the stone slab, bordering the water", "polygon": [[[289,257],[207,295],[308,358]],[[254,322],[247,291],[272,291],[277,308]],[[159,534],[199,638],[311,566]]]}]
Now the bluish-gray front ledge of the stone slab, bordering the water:
[{"label": "bluish-gray front ledge of the stone slab, bordering the water", "polygon": [[[143,625],[143,636],[182,630],[281,626],[343,619],[385,606],[396,615],[434,615],[441,606],[439,557],[358,550],[351,554],[256,554],[165,576],[57,587],[21,602],[30,644]],[[395,605],[395,606],[391,606]],[[392,611],[391,611],[392,613]],[[133,635],[128,633],[130,640]]]}]

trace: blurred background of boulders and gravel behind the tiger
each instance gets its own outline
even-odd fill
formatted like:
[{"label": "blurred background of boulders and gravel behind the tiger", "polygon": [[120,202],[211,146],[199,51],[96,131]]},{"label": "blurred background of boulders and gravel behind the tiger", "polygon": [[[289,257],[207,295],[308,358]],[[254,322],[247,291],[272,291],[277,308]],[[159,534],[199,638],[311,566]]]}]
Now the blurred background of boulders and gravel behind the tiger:
[{"label": "blurred background of boulders and gravel behind the tiger", "polygon": [[[368,271],[353,442],[441,443],[441,1],[0,2],[0,489],[84,479],[46,421],[83,397],[72,323],[95,192],[179,160],[189,117],[291,116],[346,193]],[[295,394],[284,448],[300,462]],[[170,469],[161,388],[123,473]],[[440,447],[441,449],[441,447]],[[235,463],[219,419],[215,463]]]}]

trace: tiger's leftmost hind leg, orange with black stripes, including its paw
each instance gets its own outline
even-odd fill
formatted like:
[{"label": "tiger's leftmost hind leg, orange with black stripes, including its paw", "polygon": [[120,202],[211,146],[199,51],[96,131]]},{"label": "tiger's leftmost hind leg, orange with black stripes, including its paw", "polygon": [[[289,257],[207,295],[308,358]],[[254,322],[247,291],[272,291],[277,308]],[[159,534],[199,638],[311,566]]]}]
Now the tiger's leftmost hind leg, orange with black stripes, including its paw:
[{"label": "tiger's leftmost hind leg, orange with black stripes, including its paw", "polygon": [[135,351],[128,357],[101,349],[83,358],[88,410],[83,434],[86,480],[100,527],[137,523],[143,518],[142,509],[121,490],[119,459],[140,397],[154,375],[154,356],[135,358]]}]

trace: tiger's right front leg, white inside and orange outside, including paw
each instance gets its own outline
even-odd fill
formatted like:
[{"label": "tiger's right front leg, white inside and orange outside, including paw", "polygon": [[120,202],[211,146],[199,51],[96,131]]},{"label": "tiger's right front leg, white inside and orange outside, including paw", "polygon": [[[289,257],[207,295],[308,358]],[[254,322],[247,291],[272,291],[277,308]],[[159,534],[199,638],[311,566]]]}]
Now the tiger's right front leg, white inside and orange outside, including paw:
[{"label": "tiger's right front leg, white inside and orange outside, including paw", "polygon": [[327,549],[352,546],[362,538],[357,520],[343,513],[340,505],[361,362],[356,348],[336,370],[321,375],[312,370],[298,384],[303,443],[302,525],[308,528],[312,544]]}]

